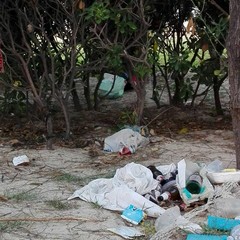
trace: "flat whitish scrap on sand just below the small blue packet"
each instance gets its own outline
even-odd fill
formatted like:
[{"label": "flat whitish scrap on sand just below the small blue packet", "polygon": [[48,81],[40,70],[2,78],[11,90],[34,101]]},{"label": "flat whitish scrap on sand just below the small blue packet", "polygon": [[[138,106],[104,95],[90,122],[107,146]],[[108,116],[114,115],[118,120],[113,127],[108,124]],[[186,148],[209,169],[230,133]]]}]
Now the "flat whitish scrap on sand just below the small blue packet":
[{"label": "flat whitish scrap on sand just below the small blue packet", "polygon": [[108,228],[110,232],[113,232],[125,239],[133,239],[135,237],[141,237],[144,236],[142,232],[139,230],[132,228],[132,227],[127,227],[127,226],[119,226],[117,228]]}]

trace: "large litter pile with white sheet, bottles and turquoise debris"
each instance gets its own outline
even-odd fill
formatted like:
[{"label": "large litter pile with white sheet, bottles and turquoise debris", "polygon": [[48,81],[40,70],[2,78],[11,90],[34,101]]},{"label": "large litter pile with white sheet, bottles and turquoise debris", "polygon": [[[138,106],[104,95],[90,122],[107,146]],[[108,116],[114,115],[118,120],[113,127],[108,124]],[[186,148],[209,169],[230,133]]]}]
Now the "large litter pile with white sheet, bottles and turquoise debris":
[{"label": "large litter pile with white sheet, bottles and turquoise debris", "polygon": [[[220,165],[220,161],[205,165],[184,159],[179,161],[177,165],[172,163],[160,166],[143,166],[132,162],[117,169],[113,178],[96,179],[76,190],[69,197],[69,200],[80,198],[84,201],[97,203],[103,208],[119,211],[121,217],[133,225],[138,225],[148,216],[154,217],[156,218],[156,234],[152,236],[152,240],[169,239],[171,233],[179,228],[189,232],[187,235],[188,240],[237,239],[233,236],[236,235],[236,231],[234,231],[234,234],[229,232],[228,236],[223,235],[222,237],[225,238],[214,235],[205,236],[202,227],[192,221],[197,211],[205,211],[215,207],[213,215],[208,217],[209,226],[217,226],[213,221],[220,221],[217,220],[218,218],[223,218],[228,223],[230,220],[235,221],[234,224],[231,223],[232,228],[228,228],[229,231],[239,224],[239,220],[233,220],[233,217],[240,216],[240,200],[236,202],[235,198],[232,199],[236,202],[238,211],[236,210],[237,207],[235,207],[234,214],[230,214],[228,211],[228,214],[222,216],[218,214],[219,216],[216,216],[216,208],[221,211],[222,204],[226,202],[226,196],[223,192],[228,193],[229,197],[229,191],[224,189],[221,194],[216,191],[219,188],[213,184],[214,173],[223,173],[224,176],[226,173],[230,173],[229,176],[231,176],[233,171],[220,169]],[[209,174],[212,181],[209,180]],[[240,171],[235,171],[235,174],[240,175]],[[235,182],[231,186],[238,186],[238,178],[234,181],[230,177],[230,180],[232,183]],[[228,179],[225,176],[222,183],[227,182]],[[223,203],[219,203],[220,200]],[[169,202],[171,204],[167,205],[166,203]],[[196,203],[200,207],[199,209],[193,209],[191,215],[186,209]],[[226,217],[231,217],[231,219],[228,220]],[[132,237],[132,234],[134,235],[135,230],[138,231],[137,229],[134,230],[134,228],[126,229],[124,226],[120,228],[109,229],[109,231],[128,239]],[[126,231],[131,232],[131,234],[127,236]],[[239,233],[239,230],[237,232]],[[230,236],[230,234],[232,235]],[[137,232],[134,236],[141,236],[141,234]]]}]

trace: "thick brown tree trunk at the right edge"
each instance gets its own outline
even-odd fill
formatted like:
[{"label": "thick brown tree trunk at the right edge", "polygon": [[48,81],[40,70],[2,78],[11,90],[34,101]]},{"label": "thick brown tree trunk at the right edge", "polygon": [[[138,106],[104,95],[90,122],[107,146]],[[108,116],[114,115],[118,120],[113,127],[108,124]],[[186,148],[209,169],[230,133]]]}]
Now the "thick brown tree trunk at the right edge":
[{"label": "thick brown tree trunk at the right edge", "polygon": [[240,169],[240,1],[230,0],[230,25],[228,33],[228,72],[230,104],[236,147],[236,165]]}]

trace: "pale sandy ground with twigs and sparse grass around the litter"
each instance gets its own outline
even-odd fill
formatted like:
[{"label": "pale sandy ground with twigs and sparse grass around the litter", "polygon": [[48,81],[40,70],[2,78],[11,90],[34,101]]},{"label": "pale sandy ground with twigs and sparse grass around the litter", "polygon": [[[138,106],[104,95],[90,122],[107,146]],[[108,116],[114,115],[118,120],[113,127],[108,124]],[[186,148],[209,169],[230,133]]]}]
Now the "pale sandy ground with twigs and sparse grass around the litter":
[{"label": "pale sandy ground with twigs and sparse grass around the litter", "polygon": [[[118,104],[123,104],[121,101],[124,100]],[[184,158],[204,163],[219,159],[228,168],[236,165],[230,130],[189,131],[170,137],[157,134],[150,140],[146,147],[124,157],[101,151],[93,156],[89,146],[83,149],[55,146],[50,151],[16,149],[1,141],[0,239],[120,240],[107,230],[126,225],[119,212],[67,198],[93,179],[112,177],[116,169],[129,162],[162,165]],[[13,157],[22,154],[29,157],[30,164],[14,167]],[[147,219],[136,227],[146,234],[139,239],[150,238],[153,224],[153,219]]]}]

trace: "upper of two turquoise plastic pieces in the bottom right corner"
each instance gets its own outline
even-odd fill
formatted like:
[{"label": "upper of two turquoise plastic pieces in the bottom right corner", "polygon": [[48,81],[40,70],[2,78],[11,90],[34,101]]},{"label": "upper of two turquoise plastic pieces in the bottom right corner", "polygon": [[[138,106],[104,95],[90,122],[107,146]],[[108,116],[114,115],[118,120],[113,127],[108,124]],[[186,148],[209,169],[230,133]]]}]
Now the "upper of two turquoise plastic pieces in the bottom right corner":
[{"label": "upper of two turquoise plastic pieces in the bottom right corner", "polygon": [[233,227],[240,224],[240,220],[231,218],[222,218],[216,216],[208,216],[207,225],[209,228],[229,231]]}]

